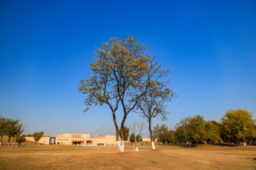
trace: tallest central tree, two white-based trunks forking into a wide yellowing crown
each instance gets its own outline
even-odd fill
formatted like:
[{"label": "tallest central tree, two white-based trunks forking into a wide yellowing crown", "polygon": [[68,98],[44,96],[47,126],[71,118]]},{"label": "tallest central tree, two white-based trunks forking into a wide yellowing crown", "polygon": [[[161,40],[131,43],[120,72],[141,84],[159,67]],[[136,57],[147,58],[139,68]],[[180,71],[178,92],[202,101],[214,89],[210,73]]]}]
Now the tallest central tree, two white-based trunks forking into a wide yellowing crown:
[{"label": "tallest central tree, two white-based trunks forking into a wide yellowing crown", "polygon": [[[109,106],[115,124],[116,140],[122,152],[124,152],[124,124],[127,115],[134,109],[138,99],[147,92],[150,80],[157,80],[166,73],[147,51],[147,46],[141,45],[132,36],[124,39],[109,39],[95,52],[95,62],[90,64],[92,76],[81,80],[81,85],[78,86],[79,91],[86,94],[84,104],[88,108],[92,104]],[[143,85],[144,90],[138,92],[139,85]],[[119,102],[124,111],[120,125],[122,145],[119,145],[118,125],[115,118]]]}]

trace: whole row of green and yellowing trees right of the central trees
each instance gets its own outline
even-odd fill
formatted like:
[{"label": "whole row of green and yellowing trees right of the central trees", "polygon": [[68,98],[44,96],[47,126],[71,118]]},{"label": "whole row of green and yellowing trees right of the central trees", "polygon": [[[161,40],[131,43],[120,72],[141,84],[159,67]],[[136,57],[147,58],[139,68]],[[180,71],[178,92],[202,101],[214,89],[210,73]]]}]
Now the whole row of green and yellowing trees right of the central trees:
[{"label": "whole row of green and yellowing trees right of the central trees", "polygon": [[175,129],[165,124],[154,127],[154,138],[161,143],[246,143],[256,144],[256,121],[246,110],[227,110],[220,122],[202,115],[180,120]]}]

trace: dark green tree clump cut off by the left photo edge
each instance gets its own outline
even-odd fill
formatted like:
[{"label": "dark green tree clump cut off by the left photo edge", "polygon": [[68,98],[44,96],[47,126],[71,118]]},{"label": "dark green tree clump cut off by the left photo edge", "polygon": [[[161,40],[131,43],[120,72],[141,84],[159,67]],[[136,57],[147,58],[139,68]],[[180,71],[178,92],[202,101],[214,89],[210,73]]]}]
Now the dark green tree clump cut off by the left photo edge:
[{"label": "dark green tree clump cut off by the left photo edge", "polygon": [[[8,136],[8,145],[10,144],[10,140],[12,138],[12,143],[15,143],[15,139],[18,141],[24,141],[24,139],[20,138],[20,135],[24,132],[24,126],[20,123],[20,120],[12,120],[10,118],[3,118],[0,115],[0,145],[2,143],[3,136]],[[26,141],[26,139],[25,139]],[[19,143],[19,142],[18,142]]]}]

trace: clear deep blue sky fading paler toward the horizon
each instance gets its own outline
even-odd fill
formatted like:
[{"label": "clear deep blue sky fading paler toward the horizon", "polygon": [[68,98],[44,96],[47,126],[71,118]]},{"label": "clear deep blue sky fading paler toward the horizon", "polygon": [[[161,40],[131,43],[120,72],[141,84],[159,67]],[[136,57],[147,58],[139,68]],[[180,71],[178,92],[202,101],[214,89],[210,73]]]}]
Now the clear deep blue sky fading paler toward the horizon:
[{"label": "clear deep blue sky fading paler toward the horizon", "polygon": [[173,69],[168,127],[196,114],[219,121],[230,108],[256,118],[256,1],[177,2],[1,1],[0,115],[26,134],[115,134],[109,108],[83,113],[76,86],[96,46],[131,35]]}]

